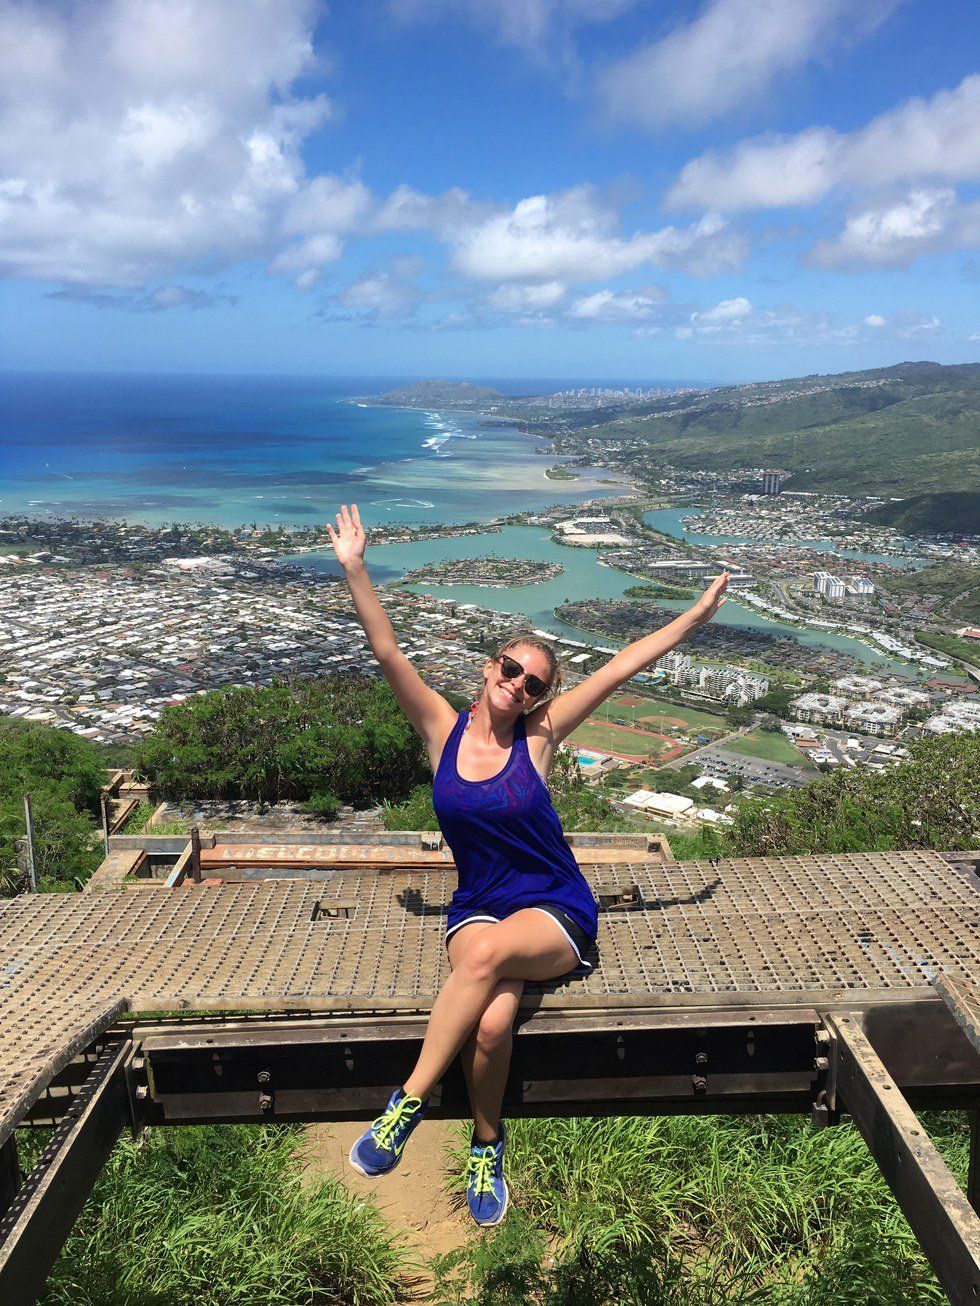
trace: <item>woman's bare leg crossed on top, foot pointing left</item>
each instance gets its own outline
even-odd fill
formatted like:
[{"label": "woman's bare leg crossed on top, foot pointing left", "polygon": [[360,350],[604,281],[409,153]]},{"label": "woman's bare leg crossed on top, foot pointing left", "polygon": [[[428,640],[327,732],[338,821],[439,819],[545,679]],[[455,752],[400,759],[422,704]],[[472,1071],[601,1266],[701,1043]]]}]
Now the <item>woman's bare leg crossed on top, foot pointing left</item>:
[{"label": "woman's bare leg crossed on top, foot pointing left", "polygon": [[476,1029],[500,980],[557,980],[576,961],[561,926],[533,908],[481,930],[433,1004],[422,1051],[405,1080],[405,1092],[426,1097],[433,1091]]}]

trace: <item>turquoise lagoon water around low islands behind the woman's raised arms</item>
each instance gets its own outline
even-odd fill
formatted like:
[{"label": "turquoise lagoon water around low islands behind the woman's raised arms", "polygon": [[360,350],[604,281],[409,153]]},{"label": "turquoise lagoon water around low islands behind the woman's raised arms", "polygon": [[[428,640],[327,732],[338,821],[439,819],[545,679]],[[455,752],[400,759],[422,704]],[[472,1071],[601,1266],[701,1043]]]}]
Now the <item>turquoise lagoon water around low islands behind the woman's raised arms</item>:
[{"label": "turquoise lagoon water around low islands behind the woman's raised arms", "polygon": [[[367,564],[379,582],[400,580],[405,572],[425,564],[455,558],[485,558],[497,554],[500,558],[534,558],[540,562],[561,563],[564,568],[561,576],[541,581],[538,585],[515,585],[508,589],[489,589],[480,585],[413,585],[421,593],[452,598],[457,603],[477,603],[495,613],[524,614],[536,628],[554,631],[570,639],[589,644],[613,644],[602,637],[584,633],[575,626],[561,622],[554,609],[576,598],[622,598],[630,585],[638,584],[626,572],[604,567],[598,562],[600,551],[595,549],[570,549],[557,545],[547,530],[540,526],[504,526],[497,534],[468,535],[456,539],[413,541],[405,545],[379,545],[368,547]],[[332,554],[301,554],[291,559],[311,567],[314,571],[337,575],[338,568]],[[683,599],[657,599],[659,607],[683,611],[690,605]],[[811,648],[832,648],[851,653],[858,661],[882,670],[909,674],[906,662],[898,662],[877,654],[860,640],[832,632],[817,632],[788,626],[763,616],[754,609],[741,603],[725,603],[715,618],[725,626],[750,627],[767,631],[771,635],[788,635]]]}]

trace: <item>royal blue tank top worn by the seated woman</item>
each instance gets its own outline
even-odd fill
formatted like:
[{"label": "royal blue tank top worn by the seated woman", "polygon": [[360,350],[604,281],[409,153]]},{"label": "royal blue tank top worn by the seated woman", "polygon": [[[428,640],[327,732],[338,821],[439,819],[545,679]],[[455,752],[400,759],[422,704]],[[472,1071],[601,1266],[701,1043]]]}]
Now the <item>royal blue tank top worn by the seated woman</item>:
[{"label": "royal blue tank top worn by the seated woman", "polygon": [[595,939],[596,900],[531,760],[524,718],[514,725],[503,769],[489,780],[464,780],[456,757],[468,716],[460,712],[433,782],[435,815],[459,871],[447,929],[476,910],[503,919],[525,906],[551,905]]}]

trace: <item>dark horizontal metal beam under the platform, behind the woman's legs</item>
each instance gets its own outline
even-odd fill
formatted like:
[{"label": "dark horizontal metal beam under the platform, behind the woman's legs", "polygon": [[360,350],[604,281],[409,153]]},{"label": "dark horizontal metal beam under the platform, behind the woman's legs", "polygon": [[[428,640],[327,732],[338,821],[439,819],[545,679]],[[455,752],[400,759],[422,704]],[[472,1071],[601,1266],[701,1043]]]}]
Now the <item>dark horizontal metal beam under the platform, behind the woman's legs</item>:
[{"label": "dark horizontal metal beam under the platform, behind the woman's legs", "polygon": [[[621,1012],[525,1020],[504,1096],[511,1115],[783,1109],[822,1087],[814,1011]],[[148,1123],[361,1119],[405,1079],[425,1020],[335,1017],[136,1032]],[[430,1114],[469,1114],[452,1067]]]}]

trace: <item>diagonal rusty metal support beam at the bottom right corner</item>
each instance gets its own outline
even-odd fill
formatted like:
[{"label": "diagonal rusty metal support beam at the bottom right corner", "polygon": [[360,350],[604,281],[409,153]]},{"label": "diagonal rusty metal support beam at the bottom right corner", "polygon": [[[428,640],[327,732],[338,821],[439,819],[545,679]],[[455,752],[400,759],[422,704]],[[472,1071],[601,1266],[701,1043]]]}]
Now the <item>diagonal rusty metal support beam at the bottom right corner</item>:
[{"label": "diagonal rusty metal support beam at the bottom right corner", "polygon": [[954,1306],[980,1299],[980,1217],[861,1028],[831,1016],[838,1105],[851,1114]]}]

